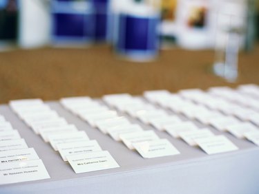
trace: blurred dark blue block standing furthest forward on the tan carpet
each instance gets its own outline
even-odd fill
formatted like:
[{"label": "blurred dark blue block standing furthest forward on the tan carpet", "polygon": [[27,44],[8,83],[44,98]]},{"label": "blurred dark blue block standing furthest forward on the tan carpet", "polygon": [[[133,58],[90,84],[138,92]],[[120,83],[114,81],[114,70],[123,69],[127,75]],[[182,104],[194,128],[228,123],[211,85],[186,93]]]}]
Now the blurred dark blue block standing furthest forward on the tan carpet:
[{"label": "blurred dark blue block standing furthest forward on the tan carpet", "polygon": [[119,14],[116,52],[133,61],[149,61],[155,58],[159,49],[159,22],[158,16]]}]

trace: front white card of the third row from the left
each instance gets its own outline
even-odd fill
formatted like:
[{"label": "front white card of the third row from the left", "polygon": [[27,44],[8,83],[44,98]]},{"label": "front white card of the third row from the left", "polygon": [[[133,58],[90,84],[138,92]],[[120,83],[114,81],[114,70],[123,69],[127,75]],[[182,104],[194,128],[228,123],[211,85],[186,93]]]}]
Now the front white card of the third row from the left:
[{"label": "front white card of the third row from the left", "polygon": [[157,158],[180,154],[169,140],[166,139],[133,143],[132,145],[143,158]]}]

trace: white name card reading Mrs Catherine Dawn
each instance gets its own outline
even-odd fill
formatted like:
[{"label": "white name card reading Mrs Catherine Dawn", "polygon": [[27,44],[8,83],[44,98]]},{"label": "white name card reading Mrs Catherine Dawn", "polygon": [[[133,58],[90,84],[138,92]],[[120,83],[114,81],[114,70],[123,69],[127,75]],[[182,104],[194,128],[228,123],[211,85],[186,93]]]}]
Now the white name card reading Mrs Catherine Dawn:
[{"label": "white name card reading Mrs Catherine Dawn", "polygon": [[119,164],[108,151],[95,151],[66,157],[75,173],[88,173],[118,168]]}]

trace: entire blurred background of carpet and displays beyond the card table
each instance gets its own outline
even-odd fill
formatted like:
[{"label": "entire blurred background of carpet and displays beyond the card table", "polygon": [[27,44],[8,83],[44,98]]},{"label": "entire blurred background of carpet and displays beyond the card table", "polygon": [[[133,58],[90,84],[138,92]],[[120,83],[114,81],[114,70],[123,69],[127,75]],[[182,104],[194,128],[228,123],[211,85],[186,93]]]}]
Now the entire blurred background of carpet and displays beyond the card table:
[{"label": "entire blurred background of carpet and displays beyond the card table", "polygon": [[0,0],[0,102],[259,84],[257,0]]}]

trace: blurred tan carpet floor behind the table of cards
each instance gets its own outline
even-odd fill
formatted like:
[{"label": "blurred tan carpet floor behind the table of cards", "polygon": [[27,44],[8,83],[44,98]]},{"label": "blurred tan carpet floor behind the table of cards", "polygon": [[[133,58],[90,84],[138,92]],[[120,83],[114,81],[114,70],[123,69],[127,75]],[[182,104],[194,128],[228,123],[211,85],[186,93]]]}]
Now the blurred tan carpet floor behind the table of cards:
[{"label": "blurred tan carpet floor behind the table of cards", "polygon": [[57,100],[149,89],[178,89],[244,83],[259,84],[259,45],[240,54],[240,77],[227,83],[211,73],[213,51],[163,50],[157,61],[132,63],[118,59],[108,46],[44,48],[0,52],[0,103],[18,98]]}]

